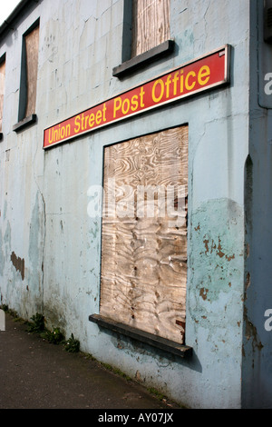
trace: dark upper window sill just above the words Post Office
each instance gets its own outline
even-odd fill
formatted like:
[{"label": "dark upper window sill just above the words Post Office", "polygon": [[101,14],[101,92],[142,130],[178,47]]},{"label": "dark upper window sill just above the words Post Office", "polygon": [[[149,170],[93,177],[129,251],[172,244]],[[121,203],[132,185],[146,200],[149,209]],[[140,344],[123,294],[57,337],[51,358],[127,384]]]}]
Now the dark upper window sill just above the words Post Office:
[{"label": "dark upper window sill just above the words Post Office", "polygon": [[154,61],[161,56],[170,55],[174,51],[174,48],[175,42],[173,40],[167,40],[166,42],[161,43],[161,45],[153,47],[149,51],[135,56],[121,65],[115,66],[112,69],[112,75],[114,77],[122,77],[125,74],[129,74],[137,68],[149,64],[151,61]]}]

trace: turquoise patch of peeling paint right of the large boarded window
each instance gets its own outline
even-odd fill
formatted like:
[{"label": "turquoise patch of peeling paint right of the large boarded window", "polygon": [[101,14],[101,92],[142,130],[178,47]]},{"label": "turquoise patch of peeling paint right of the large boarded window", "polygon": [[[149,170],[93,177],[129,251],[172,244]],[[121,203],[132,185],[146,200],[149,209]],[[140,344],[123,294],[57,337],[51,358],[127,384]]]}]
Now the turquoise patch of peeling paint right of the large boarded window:
[{"label": "turquoise patch of peeling paint right of the large boarded window", "polygon": [[[226,215],[228,213],[228,215]],[[211,200],[192,214],[189,247],[190,283],[188,310],[195,324],[216,336],[220,327],[237,328],[242,322],[244,215],[242,207],[228,200]],[[225,320],[226,319],[226,320]],[[199,327],[199,326],[198,326]],[[212,335],[211,335],[212,336]],[[210,338],[213,339],[213,338]]]}]

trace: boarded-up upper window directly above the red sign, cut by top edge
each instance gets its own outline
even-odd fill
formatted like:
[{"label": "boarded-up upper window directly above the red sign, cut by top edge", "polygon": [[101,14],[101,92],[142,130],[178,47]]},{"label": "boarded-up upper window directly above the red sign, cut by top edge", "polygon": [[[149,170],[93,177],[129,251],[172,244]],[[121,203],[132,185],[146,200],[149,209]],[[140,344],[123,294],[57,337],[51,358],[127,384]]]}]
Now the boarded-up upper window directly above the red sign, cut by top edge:
[{"label": "boarded-up upper window directly above the red sign, cut by top edge", "polygon": [[170,0],[132,0],[131,57],[170,38]]}]

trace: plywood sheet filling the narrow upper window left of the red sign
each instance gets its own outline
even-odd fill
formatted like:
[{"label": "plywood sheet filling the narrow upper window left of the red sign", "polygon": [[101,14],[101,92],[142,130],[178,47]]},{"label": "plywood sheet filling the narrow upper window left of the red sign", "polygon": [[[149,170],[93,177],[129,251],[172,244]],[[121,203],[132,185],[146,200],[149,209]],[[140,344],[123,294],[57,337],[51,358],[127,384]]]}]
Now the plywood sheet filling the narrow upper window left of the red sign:
[{"label": "plywood sheet filling the narrow upper window left of the red sign", "polygon": [[25,117],[35,113],[38,76],[39,26],[25,35],[27,102]]}]

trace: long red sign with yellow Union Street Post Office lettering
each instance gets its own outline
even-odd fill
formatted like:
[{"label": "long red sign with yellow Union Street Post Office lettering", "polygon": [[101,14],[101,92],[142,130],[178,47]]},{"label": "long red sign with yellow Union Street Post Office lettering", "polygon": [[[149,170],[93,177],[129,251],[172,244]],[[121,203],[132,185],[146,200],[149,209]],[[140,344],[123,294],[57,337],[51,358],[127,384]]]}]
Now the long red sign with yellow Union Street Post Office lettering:
[{"label": "long red sign with yellow Union Street Post Office lettering", "polygon": [[44,148],[63,143],[81,134],[141,114],[151,108],[198,94],[229,81],[229,46],[181,65],[167,74],[73,115],[44,130]]}]

